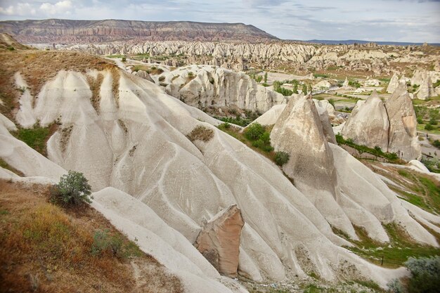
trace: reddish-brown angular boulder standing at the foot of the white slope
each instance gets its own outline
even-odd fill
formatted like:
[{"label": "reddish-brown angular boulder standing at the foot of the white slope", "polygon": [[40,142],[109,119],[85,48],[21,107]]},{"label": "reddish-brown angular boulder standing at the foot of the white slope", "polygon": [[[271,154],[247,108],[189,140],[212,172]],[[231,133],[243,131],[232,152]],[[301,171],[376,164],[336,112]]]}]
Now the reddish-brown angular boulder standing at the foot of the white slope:
[{"label": "reddish-brown angular boulder standing at the foot of the white slope", "polygon": [[236,278],[245,221],[236,204],[219,211],[200,231],[195,247],[221,275]]}]

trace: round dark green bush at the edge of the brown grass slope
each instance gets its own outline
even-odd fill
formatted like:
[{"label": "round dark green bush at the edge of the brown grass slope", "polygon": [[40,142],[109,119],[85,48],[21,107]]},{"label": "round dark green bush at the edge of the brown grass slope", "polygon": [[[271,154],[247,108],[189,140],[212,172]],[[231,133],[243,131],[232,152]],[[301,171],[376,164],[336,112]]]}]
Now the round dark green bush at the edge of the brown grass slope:
[{"label": "round dark green bush at the edge of the brown grass slope", "polygon": [[84,174],[70,170],[51,190],[51,201],[63,206],[91,203],[91,186]]}]

